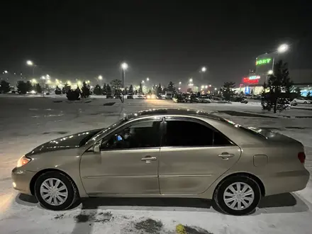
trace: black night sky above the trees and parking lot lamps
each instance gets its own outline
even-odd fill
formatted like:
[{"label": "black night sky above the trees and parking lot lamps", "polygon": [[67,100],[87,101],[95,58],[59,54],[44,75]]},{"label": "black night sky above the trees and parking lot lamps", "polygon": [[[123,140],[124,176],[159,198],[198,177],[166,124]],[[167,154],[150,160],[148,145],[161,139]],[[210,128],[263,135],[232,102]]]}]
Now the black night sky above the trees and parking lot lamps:
[{"label": "black night sky above the trees and parking lot lamps", "polygon": [[[38,2],[38,3],[36,3]],[[108,3],[110,2],[110,3]],[[308,1],[14,1],[1,5],[0,69],[126,83],[240,82],[255,57],[289,43],[289,67],[312,67]],[[310,15],[310,16],[309,16]],[[199,69],[209,72],[200,81]]]}]

